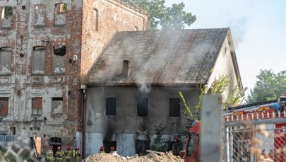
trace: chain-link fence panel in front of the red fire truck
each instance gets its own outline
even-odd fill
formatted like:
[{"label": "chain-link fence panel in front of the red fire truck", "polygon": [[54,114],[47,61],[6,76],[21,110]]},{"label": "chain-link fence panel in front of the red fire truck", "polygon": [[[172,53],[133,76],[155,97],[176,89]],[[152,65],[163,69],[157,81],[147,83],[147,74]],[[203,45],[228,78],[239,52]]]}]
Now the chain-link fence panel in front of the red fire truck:
[{"label": "chain-link fence panel in front of the red fire truck", "polygon": [[224,122],[223,125],[223,161],[286,161],[286,118]]}]

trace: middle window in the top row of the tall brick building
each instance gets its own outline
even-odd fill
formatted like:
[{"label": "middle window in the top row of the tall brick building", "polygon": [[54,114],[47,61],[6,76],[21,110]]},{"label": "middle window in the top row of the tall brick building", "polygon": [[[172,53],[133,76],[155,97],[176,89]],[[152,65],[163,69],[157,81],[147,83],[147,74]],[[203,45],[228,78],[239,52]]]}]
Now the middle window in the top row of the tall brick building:
[{"label": "middle window in the top row of the tall brick building", "polygon": [[46,6],[36,5],[35,6],[35,26],[44,27],[44,20],[46,17]]}]

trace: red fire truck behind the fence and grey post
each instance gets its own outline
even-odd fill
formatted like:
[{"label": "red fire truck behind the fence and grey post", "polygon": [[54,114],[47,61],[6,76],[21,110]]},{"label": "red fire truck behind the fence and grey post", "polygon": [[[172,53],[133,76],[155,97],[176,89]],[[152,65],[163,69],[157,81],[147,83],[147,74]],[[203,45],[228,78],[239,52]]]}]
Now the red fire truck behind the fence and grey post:
[{"label": "red fire truck behind the fence and grey post", "polygon": [[[265,120],[273,118],[285,118],[286,96],[281,96],[278,100],[270,100],[249,105],[239,105],[229,108],[230,110],[222,114],[224,122],[238,122],[242,120]],[[189,129],[184,150],[184,158],[191,162],[200,156],[200,134],[201,121],[193,122]],[[286,122],[275,125],[275,134],[279,134],[274,139],[274,149],[280,148],[281,144],[286,144]],[[275,155],[274,156],[278,156]],[[281,158],[280,158],[281,159]],[[284,158],[283,158],[284,159]],[[277,160],[281,161],[281,160]],[[286,159],[285,159],[286,161]],[[282,162],[282,161],[281,161]]]}]

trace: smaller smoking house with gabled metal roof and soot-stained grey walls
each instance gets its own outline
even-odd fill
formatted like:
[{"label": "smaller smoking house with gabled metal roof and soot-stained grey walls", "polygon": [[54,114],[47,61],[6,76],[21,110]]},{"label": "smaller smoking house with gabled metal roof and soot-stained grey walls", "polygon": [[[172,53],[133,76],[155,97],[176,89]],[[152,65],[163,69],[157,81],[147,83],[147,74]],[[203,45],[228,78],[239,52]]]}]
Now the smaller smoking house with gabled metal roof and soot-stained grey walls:
[{"label": "smaller smoking house with gabled metal roof and soot-stained grey walls", "polygon": [[174,134],[186,130],[181,91],[193,110],[201,83],[230,75],[242,88],[229,28],[119,32],[87,76],[86,154],[110,146],[123,156],[141,154],[154,143],[155,127],[172,149]]}]

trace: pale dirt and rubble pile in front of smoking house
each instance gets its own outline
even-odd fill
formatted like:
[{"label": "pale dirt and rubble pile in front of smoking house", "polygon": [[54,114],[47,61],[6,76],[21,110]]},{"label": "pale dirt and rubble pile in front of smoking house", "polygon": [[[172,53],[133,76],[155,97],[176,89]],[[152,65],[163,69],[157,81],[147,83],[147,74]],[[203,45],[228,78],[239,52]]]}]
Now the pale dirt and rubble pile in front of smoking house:
[{"label": "pale dirt and rubble pile in front of smoking house", "polygon": [[88,156],[85,158],[85,162],[95,162],[95,161],[102,161],[102,162],[112,162],[112,161],[119,161],[119,162],[152,162],[152,161],[168,161],[168,162],[184,162],[183,158],[179,156],[174,156],[172,151],[163,153],[157,151],[149,151],[149,153],[145,156],[132,156],[132,157],[124,157],[119,156],[118,154],[94,154],[92,156]]}]

